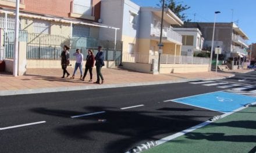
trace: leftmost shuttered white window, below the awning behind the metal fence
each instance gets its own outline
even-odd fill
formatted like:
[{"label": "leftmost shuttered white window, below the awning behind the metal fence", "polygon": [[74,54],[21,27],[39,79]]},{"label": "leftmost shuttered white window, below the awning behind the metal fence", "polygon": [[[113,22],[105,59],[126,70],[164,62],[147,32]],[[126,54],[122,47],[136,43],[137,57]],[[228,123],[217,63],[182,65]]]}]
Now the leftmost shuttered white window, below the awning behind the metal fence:
[{"label": "leftmost shuttered white window, below the awning behind the metal fence", "polygon": [[51,23],[45,20],[34,20],[33,22],[34,33],[37,34],[50,34]]}]

